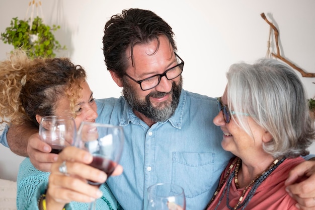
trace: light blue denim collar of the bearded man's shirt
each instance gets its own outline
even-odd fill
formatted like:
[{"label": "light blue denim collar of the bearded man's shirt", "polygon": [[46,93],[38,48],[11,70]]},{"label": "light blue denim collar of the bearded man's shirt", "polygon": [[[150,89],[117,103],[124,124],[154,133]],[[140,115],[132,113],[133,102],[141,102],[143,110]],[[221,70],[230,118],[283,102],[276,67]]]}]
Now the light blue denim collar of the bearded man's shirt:
[{"label": "light blue denim collar of the bearded man's shirt", "polygon": [[[164,124],[164,123],[170,122],[173,127],[181,129],[185,102],[186,102],[186,94],[185,94],[185,91],[182,89],[180,99],[179,99],[179,104],[175,110],[175,113],[168,120],[163,121],[163,122],[157,122],[157,123]],[[129,124],[129,122],[131,122],[133,124],[140,124],[140,122],[142,122],[142,121],[140,118],[138,118],[134,114],[131,107],[126,102],[119,125],[120,126],[127,126]],[[155,123],[155,124],[157,124],[157,123]]]}]

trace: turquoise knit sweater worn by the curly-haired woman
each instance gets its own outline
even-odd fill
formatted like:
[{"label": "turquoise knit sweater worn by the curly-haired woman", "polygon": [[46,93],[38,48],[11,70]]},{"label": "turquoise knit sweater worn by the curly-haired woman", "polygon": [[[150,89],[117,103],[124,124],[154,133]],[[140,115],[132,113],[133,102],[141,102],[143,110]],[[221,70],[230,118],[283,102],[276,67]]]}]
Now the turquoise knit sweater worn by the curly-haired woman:
[{"label": "turquoise knit sweater worn by the curly-haired woman", "polygon": [[[38,209],[38,199],[43,194],[48,185],[48,172],[37,170],[31,163],[29,158],[25,158],[20,164],[18,179],[17,179],[17,209],[18,210],[34,210]],[[107,184],[102,184],[100,190],[103,196],[109,201],[113,209],[117,209],[117,200],[112,194]],[[66,210],[87,210],[89,203],[70,202],[67,204]],[[97,199],[96,209],[110,209],[108,204],[103,199]],[[122,209],[122,207],[120,207]]]}]

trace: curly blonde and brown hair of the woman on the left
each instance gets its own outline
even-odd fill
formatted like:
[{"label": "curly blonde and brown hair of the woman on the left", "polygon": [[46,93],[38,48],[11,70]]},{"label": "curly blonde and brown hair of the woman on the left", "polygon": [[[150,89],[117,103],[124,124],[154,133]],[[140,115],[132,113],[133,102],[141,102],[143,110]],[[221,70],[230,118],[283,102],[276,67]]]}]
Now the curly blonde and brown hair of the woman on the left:
[{"label": "curly blonde and brown hair of the woman on the left", "polygon": [[30,59],[15,50],[0,62],[0,123],[30,121],[36,127],[36,114],[54,115],[57,102],[67,97],[75,117],[75,103],[81,97],[86,72],[69,58]]}]

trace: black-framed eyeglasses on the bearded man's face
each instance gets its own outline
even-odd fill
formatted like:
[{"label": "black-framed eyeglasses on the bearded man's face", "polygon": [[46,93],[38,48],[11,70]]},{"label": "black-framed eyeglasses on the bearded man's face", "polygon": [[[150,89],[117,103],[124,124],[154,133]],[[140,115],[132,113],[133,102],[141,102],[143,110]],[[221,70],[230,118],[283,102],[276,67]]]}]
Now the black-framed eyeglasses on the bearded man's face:
[{"label": "black-framed eyeglasses on the bearded man's face", "polygon": [[128,74],[125,73],[125,75],[130,78],[132,81],[138,83],[140,85],[140,88],[141,90],[143,91],[147,91],[147,90],[150,90],[152,88],[155,88],[156,86],[158,86],[161,82],[161,78],[162,77],[166,77],[168,80],[173,80],[175,78],[177,78],[178,76],[180,76],[183,72],[183,68],[184,68],[184,60],[182,60],[182,58],[180,58],[180,56],[178,56],[175,53],[175,56],[177,58],[180,59],[180,63],[167,69],[167,71],[165,71],[163,74],[161,75],[154,75],[154,76],[151,76],[151,77],[148,77],[148,78],[145,78],[143,80],[135,80],[133,79],[132,77],[130,77]]}]

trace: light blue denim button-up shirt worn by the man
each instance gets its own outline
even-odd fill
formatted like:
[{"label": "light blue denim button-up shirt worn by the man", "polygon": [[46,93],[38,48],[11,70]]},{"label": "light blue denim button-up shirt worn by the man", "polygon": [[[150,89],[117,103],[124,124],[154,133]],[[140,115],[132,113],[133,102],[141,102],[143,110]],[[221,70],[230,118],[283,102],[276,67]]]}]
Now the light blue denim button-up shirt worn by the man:
[{"label": "light blue denim button-up shirt worn by the man", "polygon": [[187,210],[206,207],[232,157],[222,149],[222,131],[212,122],[216,99],[183,90],[175,114],[151,127],[123,97],[97,100],[97,106],[98,122],[124,129],[124,172],[107,180],[124,209],[146,209],[147,188],[160,182],[184,188]]}]

